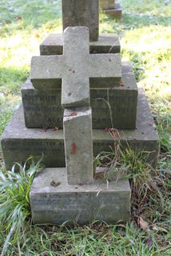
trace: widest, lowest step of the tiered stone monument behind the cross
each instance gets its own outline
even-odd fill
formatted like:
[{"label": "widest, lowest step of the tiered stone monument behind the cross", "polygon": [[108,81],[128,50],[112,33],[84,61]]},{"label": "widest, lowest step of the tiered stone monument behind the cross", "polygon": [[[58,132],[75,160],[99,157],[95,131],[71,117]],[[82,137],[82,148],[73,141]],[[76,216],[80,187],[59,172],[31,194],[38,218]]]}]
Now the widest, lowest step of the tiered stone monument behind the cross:
[{"label": "widest, lowest step of the tiered stone monument behind the cross", "polygon": [[[142,91],[138,98],[137,129],[118,131],[124,148],[129,145],[133,150],[149,152],[147,161],[156,166],[159,138]],[[109,151],[115,139],[105,130],[93,130],[93,155],[102,150]],[[30,155],[40,158],[42,153],[45,154],[43,162],[47,167],[65,166],[63,130],[26,128],[20,108],[2,134],[2,153],[7,170],[14,162],[25,162]]]}]

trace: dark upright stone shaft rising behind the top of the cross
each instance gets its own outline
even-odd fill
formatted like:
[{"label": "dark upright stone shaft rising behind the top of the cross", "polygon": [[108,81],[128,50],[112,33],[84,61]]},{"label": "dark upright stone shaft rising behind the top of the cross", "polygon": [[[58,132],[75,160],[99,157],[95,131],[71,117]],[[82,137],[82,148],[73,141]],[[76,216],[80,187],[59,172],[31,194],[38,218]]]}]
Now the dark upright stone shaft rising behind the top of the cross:
[{"label": "dark upright stone shaft rising behind the top of the cross", "polygon": [[68,26],[87,26],[90,41],[98,40],[99,0],[62,0],[63,30]]}]

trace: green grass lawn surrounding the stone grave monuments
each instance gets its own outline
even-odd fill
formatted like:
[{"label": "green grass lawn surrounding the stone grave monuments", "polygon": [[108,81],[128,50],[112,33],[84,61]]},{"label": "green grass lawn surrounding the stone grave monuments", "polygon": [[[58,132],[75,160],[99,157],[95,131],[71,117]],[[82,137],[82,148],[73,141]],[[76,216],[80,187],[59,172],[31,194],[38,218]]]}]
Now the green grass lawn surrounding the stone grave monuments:
[{"label": "green grass lawn surrounding the stone grave monuments", "polygon": [[[161,138],[157,170],[149,169],[142,156],[135,155],[132,151],[117,155],[113,152],[111,155],[110,152],[108,157],[112,163],[113,158],[115,159],[115,167],[128,171],[132,188],[131,222],[127,225],[94,222],[89,226],[70,228],[32,226],[27,204],[28,218],[22,222],[18,239],[14,239],[14,234],[11,234],[6,256],[171,254],[171,3],[166,5],[163,0],[122,0],[121,6],[121,22],[115,22],[101,14],[100,30],[103,33],[119,34],[122,59],[133,62],[138,86],[145,89],[149,98]],[[39,54],[38,46],[47,34],[62,31],[61,1],[2,0],[0,17],[1,135],[21,102],[20,88],[29,75],[31,56]],[[0,168],[8,178],[10,174],[6,174],[3,169],[1,156],[0,150]],[[104,160],[106,153],[101,157]],[[28,190],[29,188],[26,191]],[[20,195],[19,193],[18,196]],[[1,198],[3,196],[7,196],[7,191],[1,194]],[[12,200],[11,196],[10,199]],[[3,217],[2,214],[1,216]],[[6,221],[8,216],[10,215],[6,214],[5,218],[4,215],[1,220],[1,252],[4,242],[8,242],[8,234],[14,221],[13,218]]]}]

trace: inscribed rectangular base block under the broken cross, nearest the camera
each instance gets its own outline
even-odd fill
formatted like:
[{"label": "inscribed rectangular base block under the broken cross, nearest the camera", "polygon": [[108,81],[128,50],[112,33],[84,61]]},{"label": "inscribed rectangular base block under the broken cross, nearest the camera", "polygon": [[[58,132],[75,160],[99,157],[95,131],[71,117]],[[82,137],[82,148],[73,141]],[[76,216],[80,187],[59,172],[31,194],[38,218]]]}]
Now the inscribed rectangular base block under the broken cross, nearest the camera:
[{"label": "inscribed rectangular base block under the broken cross, nearest the camera", "polygon": [[94,180],[93,185],[73,186],[67,184],[65,168],[45,169],[34,178],[30,190],[33,222],[62,224],[69,221],[68,224],[80,225],[93,220],[127,222],[130,194],[127,180],[109,182],[108,187],[101,179]]}]

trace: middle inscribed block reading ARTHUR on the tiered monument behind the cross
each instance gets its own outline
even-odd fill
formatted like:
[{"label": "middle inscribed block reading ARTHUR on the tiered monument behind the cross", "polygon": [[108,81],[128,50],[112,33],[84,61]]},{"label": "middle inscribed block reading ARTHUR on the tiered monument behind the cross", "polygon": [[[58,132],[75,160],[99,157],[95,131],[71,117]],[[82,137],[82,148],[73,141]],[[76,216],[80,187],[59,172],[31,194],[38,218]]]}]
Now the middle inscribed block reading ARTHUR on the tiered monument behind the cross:
[{"label": "middle inscribed block reading ARTHUR on the tiered monument behind the cross", "polygon": [[[137,83],[130,63],[122,62],[122,86],[90,88],[93,128],[134,129],[137,116]],[[22,86],[22,103],[29,128],[62,127],[61,90],[36,90],[30,80]],[[109,102],[109,104],[107,103]],[[109,108],[110,106],[110,108]],[[110,114],[112,111],[112,115]]]}]

